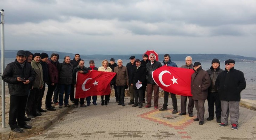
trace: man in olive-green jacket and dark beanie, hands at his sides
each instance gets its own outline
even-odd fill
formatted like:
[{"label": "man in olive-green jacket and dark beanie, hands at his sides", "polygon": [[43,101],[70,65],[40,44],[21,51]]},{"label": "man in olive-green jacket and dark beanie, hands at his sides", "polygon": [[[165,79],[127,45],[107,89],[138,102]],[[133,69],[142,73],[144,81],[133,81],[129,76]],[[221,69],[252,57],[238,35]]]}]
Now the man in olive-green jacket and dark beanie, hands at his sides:
[{"label": "man in olive-green jacket and dark beanie, hands at his sides", "polygon": [[34,59],[31,62],[31,66],[35,72],[35,81],[33,82],[32,89],[28,96],[27,106],[26,106],[26,114],[29,118],[35,118],[35,116],[41,116],[42,114],[38,110],[37,101],[40,90],[43,88],[43,69],[40,64],[41,54],[35,53]]}]

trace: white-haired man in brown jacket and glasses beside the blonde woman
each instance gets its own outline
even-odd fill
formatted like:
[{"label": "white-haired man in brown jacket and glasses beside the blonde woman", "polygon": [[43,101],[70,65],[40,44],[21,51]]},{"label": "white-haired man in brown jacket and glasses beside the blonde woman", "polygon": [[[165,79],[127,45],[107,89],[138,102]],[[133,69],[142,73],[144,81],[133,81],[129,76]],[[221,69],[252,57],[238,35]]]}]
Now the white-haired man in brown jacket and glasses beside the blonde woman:
[{"label": "white-haired man in brown jacket and glasses beside the blonde woman", "polygon": [[116,89],[118,93],[118,105],[125,106],[125,86],[129,85],[128,70],[123,66],[123,61],[118,59],[118,67],[114,68],[114,73],[116,73]]}]

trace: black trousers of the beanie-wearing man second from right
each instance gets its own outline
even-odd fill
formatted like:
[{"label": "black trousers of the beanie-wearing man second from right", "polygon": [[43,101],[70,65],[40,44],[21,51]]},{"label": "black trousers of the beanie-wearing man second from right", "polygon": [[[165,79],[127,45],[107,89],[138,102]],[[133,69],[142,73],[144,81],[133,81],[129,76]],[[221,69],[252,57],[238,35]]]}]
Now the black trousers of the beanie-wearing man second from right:
[{"label": "black trousers of the beanie-wearing man second from right", "polygon": [[221,117],[221,100],[219,98],[218,92],[208,92],[207,101],[209,117],[214,117],[214,103],[216,117]]}]

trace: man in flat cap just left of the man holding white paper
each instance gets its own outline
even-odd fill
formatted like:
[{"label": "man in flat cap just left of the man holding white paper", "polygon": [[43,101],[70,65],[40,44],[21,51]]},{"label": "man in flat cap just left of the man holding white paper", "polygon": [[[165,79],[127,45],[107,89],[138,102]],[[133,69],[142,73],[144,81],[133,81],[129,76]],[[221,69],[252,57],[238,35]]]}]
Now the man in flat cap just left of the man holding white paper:
[{"label": "man in flat cap just left of the man holding white paper", "polygon": [[129,93],[130,93],[130,102],[128,104],[134,104],[134,90],[133,90],[133,87],[131,86],[131,83],[132,83],[131,79],[132,79],[133,70],[136,68],[135,56],[131,56],[129,59],[131,62],[126,64],[126,68],[128,70],[128,76],[129,76]]}]

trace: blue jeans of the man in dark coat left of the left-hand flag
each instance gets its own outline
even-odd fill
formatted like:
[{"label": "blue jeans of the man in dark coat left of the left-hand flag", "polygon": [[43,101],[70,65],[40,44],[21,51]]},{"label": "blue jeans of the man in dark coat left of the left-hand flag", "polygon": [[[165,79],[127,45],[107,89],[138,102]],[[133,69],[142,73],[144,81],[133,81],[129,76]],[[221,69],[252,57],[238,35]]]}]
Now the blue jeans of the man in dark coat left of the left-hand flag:
[{"label": "blue jeans of the man in dark coat left of the left-hand flag", "polygon": [[68,104],[68,98],[69,98],[69,94],[70,94],[71,85],[60,84],[59,87],[60,87],[59,106],[63,105],[64,91],[65,91],[64,104],[67,105]]}]

